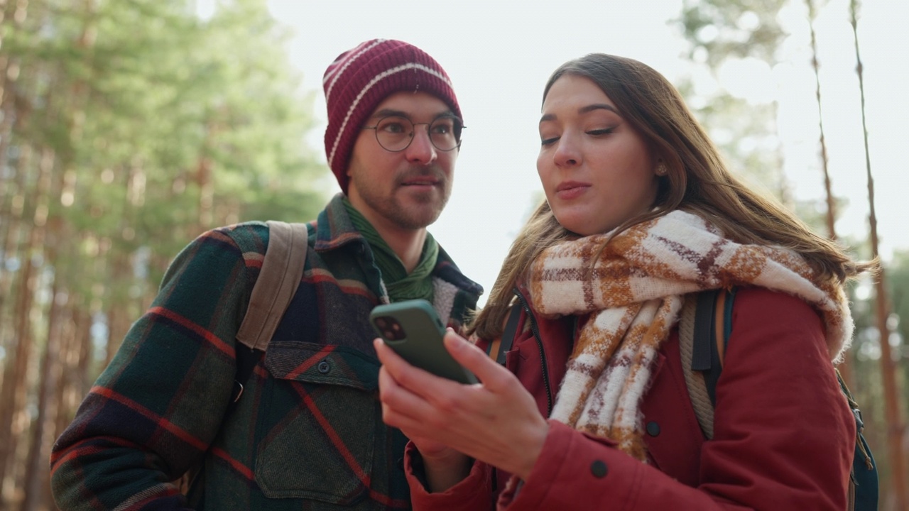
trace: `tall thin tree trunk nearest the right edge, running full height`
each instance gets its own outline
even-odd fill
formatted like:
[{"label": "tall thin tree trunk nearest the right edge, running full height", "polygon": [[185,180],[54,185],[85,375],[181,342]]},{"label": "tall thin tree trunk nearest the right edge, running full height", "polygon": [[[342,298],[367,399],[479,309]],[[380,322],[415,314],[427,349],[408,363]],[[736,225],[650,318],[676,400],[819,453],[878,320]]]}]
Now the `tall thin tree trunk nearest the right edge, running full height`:
[{"label": "tall thin tree trunk nearest the right edge, running full height", "polygon": [[[862,129],[864,133],[864,162],[868,178],[868,224],[871,227],[871,251],[875,258],[878,253],[877,215],[874,213],[874,177],[871,173],[871,155],[868,150],[868,127],[865,119],[864,108],[864,68],[858,45],[858,5],[856,0],[849,3],[851,23],[855,40],[855,73],[858,75],[859,94],[862,99]],[[884,286],[884,268],[874,282],[877,330],[881,340],[881,373],[884,378],[884,415],[887,418],[889,430],[887,431],[887,444],[890,457],[890,482],[894,509],[909,509],[909,500],[906,496],[905,450],[903,447],[904,424],[901,418],[898,400],[899,387],[896,382],[896,362],[890,349],[890,329],[887,326],[887,317],[890,316],[887,292]],[[886,501],[885,501],[886,502]]]}]

